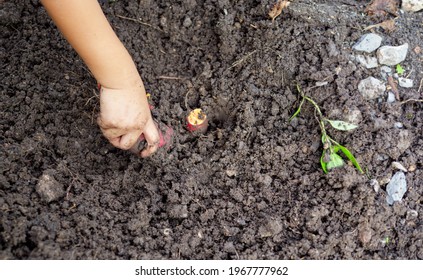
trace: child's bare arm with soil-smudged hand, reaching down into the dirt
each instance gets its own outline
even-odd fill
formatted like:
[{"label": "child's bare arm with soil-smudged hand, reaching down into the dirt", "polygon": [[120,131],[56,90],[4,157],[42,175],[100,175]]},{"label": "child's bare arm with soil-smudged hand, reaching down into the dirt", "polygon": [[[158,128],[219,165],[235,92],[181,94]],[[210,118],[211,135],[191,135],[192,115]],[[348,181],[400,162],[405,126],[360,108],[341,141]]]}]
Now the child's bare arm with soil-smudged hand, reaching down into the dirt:
[{"label": "child's bare arm with soil-smudged hand, reaching down into the dirt", "polygon": [[142,156],[154,153],[159,134],[141,77],[97,0],[41,2],[102,86],[98,124],[104,136],[114,146],[129,149],[143,133],[149,145]]}]

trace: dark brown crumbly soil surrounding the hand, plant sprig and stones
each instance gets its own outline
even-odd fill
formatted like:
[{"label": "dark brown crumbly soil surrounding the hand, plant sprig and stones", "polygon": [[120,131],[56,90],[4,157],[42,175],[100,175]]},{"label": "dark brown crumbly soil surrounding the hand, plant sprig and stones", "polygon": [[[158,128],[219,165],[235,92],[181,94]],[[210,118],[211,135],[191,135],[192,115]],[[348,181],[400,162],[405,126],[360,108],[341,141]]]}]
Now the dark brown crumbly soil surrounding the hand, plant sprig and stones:
[{"label": "dark brown crumbly soil surrounding the hand, plant sprig and stones", "polygon": [[[102,3],[155,118],[176,132],[141,159],[102,136],[96,81],[39,1],[0,1],[0,258],[423,259],[423,103],[410,100],[423,97],[423,13],[366,31],[394,16],[368,16],[369,1],[294,0],[272,21],[274,3]],[[357,90],[384,80],[353,59],[369,32],[409,44],[401,101]],[[313,107],[289,121],[297,85],[326,116],[357,122],[328,133],[365,174],[323,173]],[[197,107],[204,135],[186,130]],[[388,205],[393,162],[408,190]]]}]

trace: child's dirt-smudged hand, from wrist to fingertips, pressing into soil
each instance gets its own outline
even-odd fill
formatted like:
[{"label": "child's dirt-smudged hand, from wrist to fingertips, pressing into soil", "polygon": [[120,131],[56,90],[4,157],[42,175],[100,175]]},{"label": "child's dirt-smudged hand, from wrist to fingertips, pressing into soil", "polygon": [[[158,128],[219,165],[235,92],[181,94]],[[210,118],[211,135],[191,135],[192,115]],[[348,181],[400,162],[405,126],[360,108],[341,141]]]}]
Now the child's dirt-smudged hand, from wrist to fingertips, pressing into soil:
[{"label": "child's dirt-smudged hand, from wrist to fingertips, pressing into soil", "polygon": [[158,148],[160,136],[142,84],[123,89],[101,87],[98,125],[117,148],[130,149],[141,134],[148,146],[140,156],[148,157]]}]

